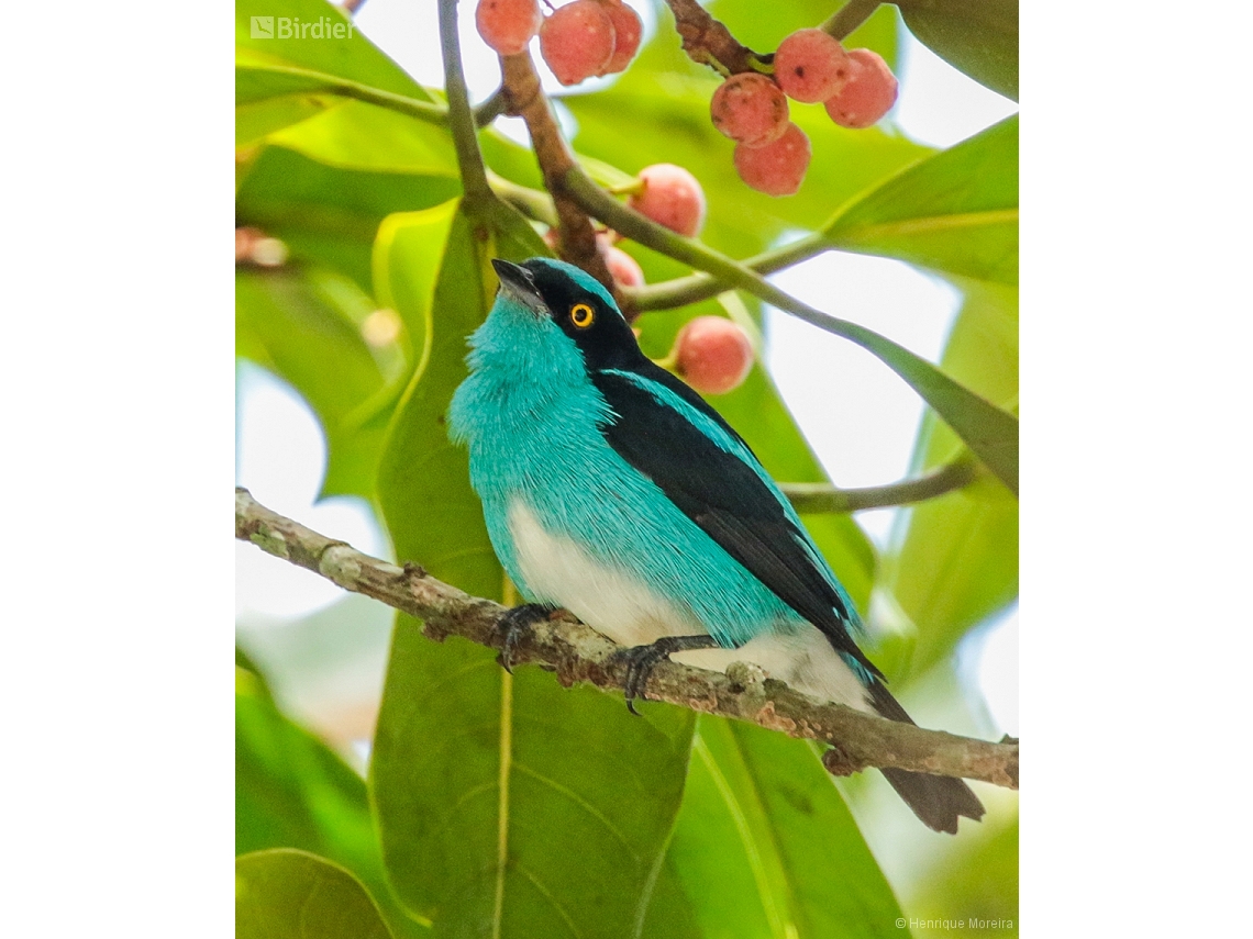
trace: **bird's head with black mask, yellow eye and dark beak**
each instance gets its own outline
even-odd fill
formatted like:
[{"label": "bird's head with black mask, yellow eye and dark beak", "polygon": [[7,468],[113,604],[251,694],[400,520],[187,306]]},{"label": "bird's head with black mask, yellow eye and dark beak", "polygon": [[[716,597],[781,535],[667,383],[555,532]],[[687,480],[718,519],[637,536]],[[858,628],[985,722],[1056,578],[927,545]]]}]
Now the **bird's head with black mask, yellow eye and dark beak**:
[{"label": "bird's head with black mask, yellow eye and dark beak", "polygon": [[491,265],[500,278],[494,314],[530,321],[549,342],[561,343],[559,331],[583,353],[589,369],[625,367],[640,356],[618,304],[591,275],[550,258],[521,264],[494,259]]}]

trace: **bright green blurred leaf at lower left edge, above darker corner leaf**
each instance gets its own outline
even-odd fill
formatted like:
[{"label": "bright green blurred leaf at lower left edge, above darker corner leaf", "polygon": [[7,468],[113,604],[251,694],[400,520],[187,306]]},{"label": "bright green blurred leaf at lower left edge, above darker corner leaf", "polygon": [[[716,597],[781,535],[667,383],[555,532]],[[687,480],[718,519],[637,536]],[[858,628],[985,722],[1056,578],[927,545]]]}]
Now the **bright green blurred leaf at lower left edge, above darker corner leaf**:
[{"label": "bright green blurred leaf at lower left edge, above darker corner leaf", "polygon": [[365,781],[278,711],[247,657],[237,654],[236,669],[253,677],[237,681],[236,853],[299,848],[325,855],[370,885],[396,935],[425,933],[387,891]]}]

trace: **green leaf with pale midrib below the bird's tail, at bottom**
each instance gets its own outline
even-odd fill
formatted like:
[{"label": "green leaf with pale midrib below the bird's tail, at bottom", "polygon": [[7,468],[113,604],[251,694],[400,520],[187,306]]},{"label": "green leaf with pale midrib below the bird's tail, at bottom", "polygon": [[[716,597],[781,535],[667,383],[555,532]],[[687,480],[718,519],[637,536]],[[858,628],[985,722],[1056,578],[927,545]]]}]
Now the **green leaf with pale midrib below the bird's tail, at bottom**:
[{"label": "green leaf with pale midrib below the bird's tail, at bottom", "polygon": [[902,935],[813,749],[751,724],[700,717],[668,861],[709,939]]}]

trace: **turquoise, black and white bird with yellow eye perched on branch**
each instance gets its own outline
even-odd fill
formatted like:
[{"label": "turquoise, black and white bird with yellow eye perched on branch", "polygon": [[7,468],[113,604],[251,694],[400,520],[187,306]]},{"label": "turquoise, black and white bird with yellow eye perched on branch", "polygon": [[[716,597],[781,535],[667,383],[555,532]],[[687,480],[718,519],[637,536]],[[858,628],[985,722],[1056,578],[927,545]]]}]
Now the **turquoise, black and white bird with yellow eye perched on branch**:
[{"label": "turquoise, black and white bird with yellow eye perched on branch", "polygon": [[[848,592],[744,439],[640,351],[595,278],[550,258],[491,263],[500,287],[469,338],[447,427],[526,601],[506,630],[570,611],[624,647],[633,711],[648,672],[673,657],[715,671],[752,662],[912,724],[855,641]],[[882,772],[936,831],[984,815],[962,780]]]}]

